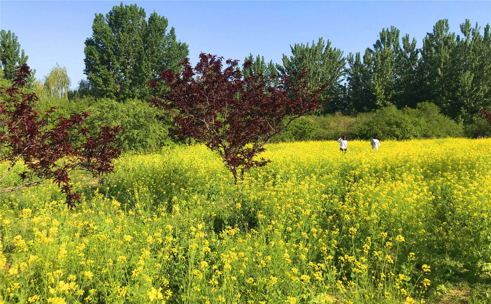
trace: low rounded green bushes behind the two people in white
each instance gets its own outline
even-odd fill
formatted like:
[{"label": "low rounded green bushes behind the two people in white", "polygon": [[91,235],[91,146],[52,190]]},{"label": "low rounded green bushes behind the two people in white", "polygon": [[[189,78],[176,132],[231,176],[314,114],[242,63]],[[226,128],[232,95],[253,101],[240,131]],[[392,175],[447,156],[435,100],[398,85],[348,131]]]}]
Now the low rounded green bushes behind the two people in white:
[{"label": "low rounded green bushes behind the two people in white", "polygon": [[464,132],[462,125],[440,114],[436,105],[424,102],[419,103],[417,109],[397,110],[395,106],[390,106],[371,113],[360,113],[356,117],[340,112],[302,117],[297,123],[292,122],[276,141],[335,140],[342,135],[362,140],[369,140],[375,135],[382,140],[406,140],[461,137]]}]

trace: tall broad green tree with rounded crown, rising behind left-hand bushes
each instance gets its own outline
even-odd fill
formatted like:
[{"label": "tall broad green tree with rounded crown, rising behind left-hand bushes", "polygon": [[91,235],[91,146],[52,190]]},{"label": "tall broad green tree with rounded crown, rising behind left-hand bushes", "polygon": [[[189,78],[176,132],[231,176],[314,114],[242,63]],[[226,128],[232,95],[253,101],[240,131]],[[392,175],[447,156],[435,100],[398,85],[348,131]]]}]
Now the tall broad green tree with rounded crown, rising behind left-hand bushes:
[{"label": "tall broad green tree with rounded crown, rising behind left-hand bushes", "polygon": [[188,45],[166,33],[168,21],[156,12],[148,22],[136,4],[114,6],[96,14],[92,37],[85,40],[84,73],[98,97],[124,101],[150,96],[148,80],[166,69],[178,72]]}]

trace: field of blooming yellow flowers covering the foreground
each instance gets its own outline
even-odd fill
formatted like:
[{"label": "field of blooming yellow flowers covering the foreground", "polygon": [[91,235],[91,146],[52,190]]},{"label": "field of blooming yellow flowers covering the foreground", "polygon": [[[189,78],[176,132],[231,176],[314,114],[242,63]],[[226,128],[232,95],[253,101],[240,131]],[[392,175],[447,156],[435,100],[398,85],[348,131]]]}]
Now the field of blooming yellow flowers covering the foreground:
[{"label": "field of blooming yellow flowers covering the foreground", "polygon": [[201,145],[125,155],[72,211],[2,195],[0,303],[412,304],[490,276],[491,139],[348,148],[271,144],[240,185]]}]

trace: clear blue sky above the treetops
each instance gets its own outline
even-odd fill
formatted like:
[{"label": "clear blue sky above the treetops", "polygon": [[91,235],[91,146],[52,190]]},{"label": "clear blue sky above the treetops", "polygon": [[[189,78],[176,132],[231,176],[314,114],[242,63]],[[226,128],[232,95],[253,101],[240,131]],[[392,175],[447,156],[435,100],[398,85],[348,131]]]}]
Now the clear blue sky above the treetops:
[{"label": "clear blue sky above the treetops", "polygon": [[[72,88],[85,78],[83,47],[92,35],[95,13],[106,14],[120,1],[0,1],[0,28],[12,30],[29,56],[27,63],[42,79],[58,63],[66,66]],[[191,62],[199,53],[225,58],[263,55],[280,63],[290,44],[317,42],[364,52],[382,28],[409,33],[418,47],[439,19],[450,30],[469,19],[484,28],[491,23],[486,1],[123,1],[136,3],[147,14],[165,16],[177,38],[189,45]]]}]

